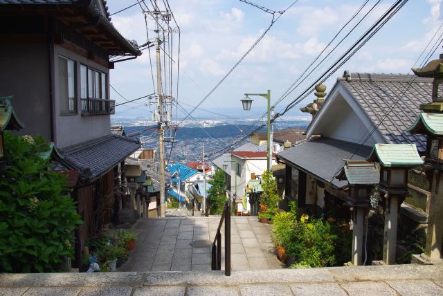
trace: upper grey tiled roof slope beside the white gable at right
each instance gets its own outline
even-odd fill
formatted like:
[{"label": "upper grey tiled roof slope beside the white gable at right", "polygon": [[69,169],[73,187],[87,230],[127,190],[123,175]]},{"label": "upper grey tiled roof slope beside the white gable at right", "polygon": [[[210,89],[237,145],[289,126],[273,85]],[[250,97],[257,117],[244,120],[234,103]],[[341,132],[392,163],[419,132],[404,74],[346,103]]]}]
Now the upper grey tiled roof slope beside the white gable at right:
[{"label": "upper grey tiled roof slope beside the white gable at right", "polygon": [[431,102],[432,82],[429,78],[400,74],[352,73],[350,81],[338,79],[386,142],[412,143],[420,152],[426,150],[426,137],[411,135],[407,129],[417,120],[419,105]]}]

